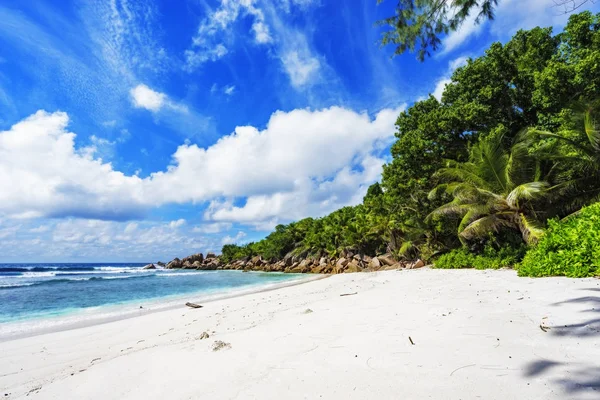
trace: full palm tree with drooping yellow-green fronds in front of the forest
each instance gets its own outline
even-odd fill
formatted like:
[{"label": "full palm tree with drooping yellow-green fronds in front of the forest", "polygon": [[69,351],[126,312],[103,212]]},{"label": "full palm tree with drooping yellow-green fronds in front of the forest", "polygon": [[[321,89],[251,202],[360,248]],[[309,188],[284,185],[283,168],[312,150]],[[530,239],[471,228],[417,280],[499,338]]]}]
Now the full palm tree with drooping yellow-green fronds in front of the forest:
[{"label": "full palm tree with drooping yellow-green fronds in front of the forest", "polygon": [[461,242],[502,228],[518,230],[526,243],[536,242],[543,233],[532,201],[544,196],[549,185],[539,179],[537,163],[524,144],[516,143],[507,152],[502,137],[493,135],[473,146],[469,162],[449,161],[434,176],[445,183],[431,191],[430,198],[446,193],[453,200],[428,219],[460,216]]}]

